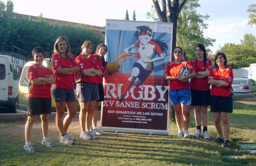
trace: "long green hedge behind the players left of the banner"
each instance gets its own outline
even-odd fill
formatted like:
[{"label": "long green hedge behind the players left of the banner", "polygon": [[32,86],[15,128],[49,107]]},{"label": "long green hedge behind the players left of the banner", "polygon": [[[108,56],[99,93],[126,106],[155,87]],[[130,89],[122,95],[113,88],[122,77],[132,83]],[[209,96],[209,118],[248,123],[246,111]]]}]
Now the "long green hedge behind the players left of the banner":
[{"label": "long green hedge behind the players left of the banner", "polygon": [[59,36],[68,38],[74,55],[80,54],[80,47],[85,40],[90,40],[94,47],[104,41],[101,35],[93,33],[84,24],[53,24],[44,21],[43,15],[38,16],[36,22],[3,12],[0,16],[0,27],[0,46],[16,46],[26,52],[31,52],[35,46],[41,46],[52,54],[55,40]]}]

